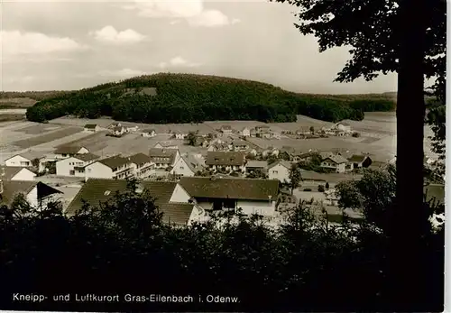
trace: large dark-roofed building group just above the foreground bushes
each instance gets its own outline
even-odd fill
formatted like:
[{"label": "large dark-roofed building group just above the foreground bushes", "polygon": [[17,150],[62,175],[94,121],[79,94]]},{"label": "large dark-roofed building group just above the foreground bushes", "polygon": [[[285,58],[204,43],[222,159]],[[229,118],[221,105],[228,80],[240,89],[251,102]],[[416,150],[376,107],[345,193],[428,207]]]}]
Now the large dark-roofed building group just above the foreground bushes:
[{"label": "large dark-roofed building group just above the foreground bushes", "polygon": [[[189,225],[221,211],[240,209],[244,215],[274,216],[279,205],[278,180],[183,177],[178,182],[141,181],[136,192],[149,190],[163,221]],[[66,213],[74,215],[84,203],[98,206],[127,188],[126,180],[89,179],[71,201]]]}]

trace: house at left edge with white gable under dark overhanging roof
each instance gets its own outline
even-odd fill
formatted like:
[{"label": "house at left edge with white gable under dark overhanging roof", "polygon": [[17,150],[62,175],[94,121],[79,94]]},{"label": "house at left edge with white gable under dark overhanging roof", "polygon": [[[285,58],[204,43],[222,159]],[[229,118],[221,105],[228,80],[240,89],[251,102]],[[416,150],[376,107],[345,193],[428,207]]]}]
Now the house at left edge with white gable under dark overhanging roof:
[{"label": "house at left edge with white gable under dark overhanging roof", "polygon": [[14,198],[22,194],[32,207],[44,208],[61,193],[41,181],[0,180],[0,204],[6,206],[11,206]]}]

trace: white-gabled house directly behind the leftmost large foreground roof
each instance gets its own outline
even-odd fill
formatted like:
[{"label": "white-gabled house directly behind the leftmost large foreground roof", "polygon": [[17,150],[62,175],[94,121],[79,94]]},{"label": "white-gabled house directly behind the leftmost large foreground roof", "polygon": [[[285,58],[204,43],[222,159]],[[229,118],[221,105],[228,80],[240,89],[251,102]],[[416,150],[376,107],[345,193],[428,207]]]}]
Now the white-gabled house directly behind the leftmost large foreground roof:
[{"label": "white-gabled house directly behind the leftmost large foreground roof", "polygon": [[130,158],[115,155],[95,161],[85,167],[85,180],[89,179],[127,179],[133,177],[133,163]]}]

